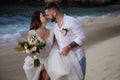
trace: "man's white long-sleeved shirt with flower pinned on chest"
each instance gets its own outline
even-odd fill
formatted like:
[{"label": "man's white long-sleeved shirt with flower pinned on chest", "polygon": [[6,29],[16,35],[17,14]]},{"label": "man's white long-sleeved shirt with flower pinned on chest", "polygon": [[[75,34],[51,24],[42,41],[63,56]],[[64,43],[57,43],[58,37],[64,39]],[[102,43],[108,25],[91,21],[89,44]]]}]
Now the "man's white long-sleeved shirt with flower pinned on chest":
[{"label": "man's white long-sleeved shirt with flower pinned on chest", "polygon": [[[61,33],[63,28],[68,29],[66,35],[62,35]],[[60,28],[56,23],[53,30],[60,50],[75,41],[79,46],[72,50],[76,53],[78,60],[85,56],[83,49],[85,35],[82,24],[79,20],[64,15]]]}]

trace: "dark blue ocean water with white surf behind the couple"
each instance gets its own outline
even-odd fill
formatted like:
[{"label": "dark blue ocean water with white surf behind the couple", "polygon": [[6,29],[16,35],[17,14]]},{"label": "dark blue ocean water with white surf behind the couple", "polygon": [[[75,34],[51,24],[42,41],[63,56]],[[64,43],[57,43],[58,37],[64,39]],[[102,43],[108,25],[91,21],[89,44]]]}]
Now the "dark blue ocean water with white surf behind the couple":
[{"label": "dark blue ocean water with white surf behind the couple", "polygon": [[[21,32],[29,30],[31,15],[35,10],[43,10],[41,7],[0,5],[0,39],[1,42],[16,40]],[[120,16],[120,5],[103,7],[68,7],[61,8],[62,12],[82,20],[86,17]],[[48,23],[51,28],[52,23]]]}]

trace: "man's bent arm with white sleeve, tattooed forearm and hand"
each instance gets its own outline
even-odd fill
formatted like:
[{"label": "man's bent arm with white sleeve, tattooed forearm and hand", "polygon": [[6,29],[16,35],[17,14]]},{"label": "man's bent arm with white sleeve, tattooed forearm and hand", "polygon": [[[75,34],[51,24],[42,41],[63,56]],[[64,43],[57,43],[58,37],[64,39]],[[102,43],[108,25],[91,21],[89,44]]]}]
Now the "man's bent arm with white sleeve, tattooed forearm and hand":
[{"label": "man's bent arm with white sleeve, tattooed forearm and hand", "polygon": [[70,23],[71,23],[71,30],[75,34],[73,36],[76,36],[76,38],[72,41],[72,43],[70,43],[68,46],[63,48],[62,50],[63,55],[67,55],[72,48],[75,48],[77,46],[82,46],[83,41],[85,39],[82,24],[75,19],[71,20]]}]

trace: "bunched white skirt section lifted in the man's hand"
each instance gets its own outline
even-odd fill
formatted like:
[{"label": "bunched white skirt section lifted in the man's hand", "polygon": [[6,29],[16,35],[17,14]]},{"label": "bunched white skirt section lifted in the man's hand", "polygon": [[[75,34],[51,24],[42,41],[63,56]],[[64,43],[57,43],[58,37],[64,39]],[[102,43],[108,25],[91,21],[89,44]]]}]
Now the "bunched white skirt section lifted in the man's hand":
[{"label": "bunched white skirt section lifted in the man's hand", "polygon": [[73,51],[63,56],[57,46],[54,46],[47,64],[47,72],[51,80],[83,80],[81,66]]}]

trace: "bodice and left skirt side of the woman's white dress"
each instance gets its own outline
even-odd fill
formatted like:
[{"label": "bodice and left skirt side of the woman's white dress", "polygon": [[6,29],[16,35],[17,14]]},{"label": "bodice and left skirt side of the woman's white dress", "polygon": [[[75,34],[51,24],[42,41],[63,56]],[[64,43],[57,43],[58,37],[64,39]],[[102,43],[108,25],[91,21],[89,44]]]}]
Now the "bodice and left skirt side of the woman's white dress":
[{"label": "bodice and left skirt side of the woman's white dress", "polygon": [[[29,33],[31,33],[33,35],[36,34],[35,30],[30,30]],[[32,57],[27,56],[25,58],[23,69],[26,73],[26,76],[27,76],[28,80],[38,80],[40,71],[44,68],[47,70],[47,68],[46,68],[47,67],[47,61],[48,61],[47,59],[48,59],[50,50],[53,46],[53,37],[54,37],[54,34],[53,34],[52,31],[50,31],[49,37],[46,41],[44,41],[42,38],[40,38],[38,36],[40,41],[46,42],[46,47],[44,49],[42,49],[41,53],[39,53],[37,55],[39,57],[39,60],[40,60],[40,63],[41,63],[40,67],[34,67],[34,59]]]}]

